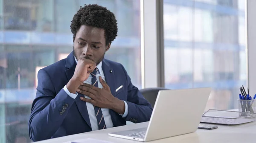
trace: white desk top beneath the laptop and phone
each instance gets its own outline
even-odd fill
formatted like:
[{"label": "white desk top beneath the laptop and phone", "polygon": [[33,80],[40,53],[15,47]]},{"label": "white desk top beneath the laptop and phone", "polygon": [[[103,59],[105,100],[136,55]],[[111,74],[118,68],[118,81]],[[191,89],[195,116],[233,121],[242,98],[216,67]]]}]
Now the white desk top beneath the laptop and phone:
[{"label": "white desk top beneath the laptop and phone", "polygon": [[[117,137],[108,136],[109,132],[117,132],[126,129],[137,129],[146,127],[148,122],[136,123],[126,126],[119,126],[110,129],[103,129],[93,132],[81,133],[65,137],[44,140],[37,143],[62,143],[85,138],[94,138],[98,140],[106,140],[113,143],[141,143],[139,141],[127,140]],[[206,130],[197,129],[196,132],[169,137],[160,140],[153,140],[147,143],[255,143],[256,139],[256,121],[241,125],[223,126],[217,125],[218,129]]]}]

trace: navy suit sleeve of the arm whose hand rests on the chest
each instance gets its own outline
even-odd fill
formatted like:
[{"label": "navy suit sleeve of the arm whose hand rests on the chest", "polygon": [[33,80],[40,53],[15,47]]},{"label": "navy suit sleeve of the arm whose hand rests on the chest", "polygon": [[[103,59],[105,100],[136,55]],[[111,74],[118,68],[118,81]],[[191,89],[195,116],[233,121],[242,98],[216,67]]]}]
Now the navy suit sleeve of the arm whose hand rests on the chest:
[{"label": "navy suit sleeve of the arm whose hand rests on the chest", "polygon": [[131,78],[123,66],[122,68],[125,71],[128,85],[128,115],[125,118],[126,121],[134,123],[149,121],[153,110],[151,104],[143,97],[139,89],[131,83]]}]

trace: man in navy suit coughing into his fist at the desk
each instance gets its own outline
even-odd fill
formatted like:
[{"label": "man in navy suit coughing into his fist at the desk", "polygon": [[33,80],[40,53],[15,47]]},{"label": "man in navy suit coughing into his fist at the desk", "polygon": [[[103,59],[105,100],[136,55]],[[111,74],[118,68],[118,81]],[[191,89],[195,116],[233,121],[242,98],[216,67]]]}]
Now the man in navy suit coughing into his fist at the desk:
[{"label": "man in navy suit coughing into his fist at the desk", "polygon": [[104,59],[117,36],[115,15],[102,6],[85,5],[70,28],[73,52],[38,72],[31,140],[149,121],[152,107],[122,64]]}]

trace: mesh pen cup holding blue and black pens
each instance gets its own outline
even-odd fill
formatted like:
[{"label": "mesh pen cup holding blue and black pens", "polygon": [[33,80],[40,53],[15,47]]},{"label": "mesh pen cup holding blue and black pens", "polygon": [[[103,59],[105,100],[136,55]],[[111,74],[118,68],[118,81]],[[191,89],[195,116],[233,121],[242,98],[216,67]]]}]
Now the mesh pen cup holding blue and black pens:
[{"label": "mesh pen cup holding blue and black pens", "polygon": [[250,112],[255,113],[256,104],[255,100],[240,100],[238,99],[239,112]]}]

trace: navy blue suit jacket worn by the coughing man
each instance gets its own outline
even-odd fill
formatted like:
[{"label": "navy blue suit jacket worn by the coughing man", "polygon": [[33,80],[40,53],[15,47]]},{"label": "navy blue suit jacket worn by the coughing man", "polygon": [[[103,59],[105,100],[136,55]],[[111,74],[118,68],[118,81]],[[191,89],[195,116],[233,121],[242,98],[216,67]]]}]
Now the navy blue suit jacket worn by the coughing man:
[{"label": "navy blue suit jacket worn by the coughing man", "polygon": [[[73,99],[63,90],[72,78],[75,68],[76,61],[72,52],[67,59],[39,70],[36,98],[29,117],[31,140],[46,140],[92,131],[86,103],[80,100],[83,95],[79,93],[76,99]],[[145,100],[137,87],[133,86],[122,64],[103,59],[102,70],[112,95],[128,104],[126,118],[109,110],[113,126],[126,125],[126,121],[149,121],[151,104]],[[121,85],[123,87],[116,92]],[[60,114],[62,109],[65,109],[65,112]]]}]

